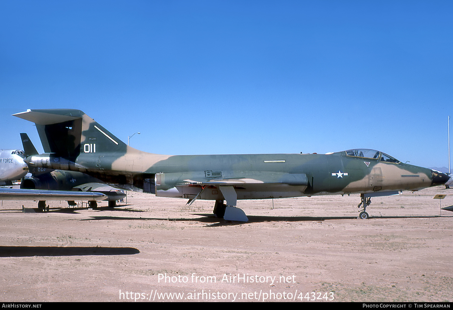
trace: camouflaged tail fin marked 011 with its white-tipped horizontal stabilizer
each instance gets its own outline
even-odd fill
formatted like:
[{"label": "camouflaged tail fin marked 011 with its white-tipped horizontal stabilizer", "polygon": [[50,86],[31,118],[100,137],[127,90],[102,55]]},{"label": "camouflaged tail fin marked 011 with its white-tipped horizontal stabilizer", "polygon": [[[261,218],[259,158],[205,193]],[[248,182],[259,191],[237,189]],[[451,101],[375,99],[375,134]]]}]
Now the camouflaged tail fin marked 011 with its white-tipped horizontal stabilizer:
[{"label": "camouflaged tail fin marked 011 with its white-tipped horizontal stabilizer", "polygon": [[74,161],[81,153],[126,153],[125,143],[80,110],[29,109],[13,115],[34,122],[44,152],[54,156]]}]

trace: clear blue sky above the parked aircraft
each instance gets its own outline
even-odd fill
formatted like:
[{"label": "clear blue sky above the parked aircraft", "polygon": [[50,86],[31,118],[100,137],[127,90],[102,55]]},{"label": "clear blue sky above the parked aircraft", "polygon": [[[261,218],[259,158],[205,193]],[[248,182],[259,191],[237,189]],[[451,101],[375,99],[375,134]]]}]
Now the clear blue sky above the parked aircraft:
[{"label": "clear blue sky above the parked aircraft", "polygon": [[[1,1],[0,148],[26,109],[160,154],[382,150],[448,165],[452,1]],[[453,125],[453,124],[452,124]]]}]

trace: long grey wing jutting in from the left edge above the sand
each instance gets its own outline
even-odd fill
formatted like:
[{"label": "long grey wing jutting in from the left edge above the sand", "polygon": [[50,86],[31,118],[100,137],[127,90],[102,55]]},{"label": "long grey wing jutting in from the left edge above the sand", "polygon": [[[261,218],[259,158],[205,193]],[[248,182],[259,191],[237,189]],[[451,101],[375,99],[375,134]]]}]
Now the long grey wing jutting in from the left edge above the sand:
[{"label": "long grey wing jutting in from the left edge above the sand", "polygon": [[104,200],[98,192],[74,192],[46,189],[0,189],[0,200]]}]

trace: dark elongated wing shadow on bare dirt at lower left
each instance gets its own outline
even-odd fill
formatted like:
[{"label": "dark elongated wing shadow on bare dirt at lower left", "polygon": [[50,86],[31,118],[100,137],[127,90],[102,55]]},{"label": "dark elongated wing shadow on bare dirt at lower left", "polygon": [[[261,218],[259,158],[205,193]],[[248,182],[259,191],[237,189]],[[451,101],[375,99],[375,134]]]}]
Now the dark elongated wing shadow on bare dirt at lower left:
[{"label": "dark elongated wing shadow on bare dirt at lower left", "polygon": [[3,247],[0,257],[130,255],[140,251],[134,247]]}]

